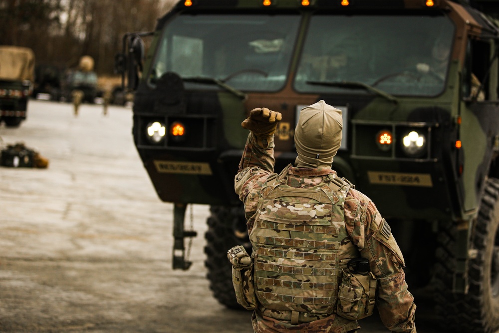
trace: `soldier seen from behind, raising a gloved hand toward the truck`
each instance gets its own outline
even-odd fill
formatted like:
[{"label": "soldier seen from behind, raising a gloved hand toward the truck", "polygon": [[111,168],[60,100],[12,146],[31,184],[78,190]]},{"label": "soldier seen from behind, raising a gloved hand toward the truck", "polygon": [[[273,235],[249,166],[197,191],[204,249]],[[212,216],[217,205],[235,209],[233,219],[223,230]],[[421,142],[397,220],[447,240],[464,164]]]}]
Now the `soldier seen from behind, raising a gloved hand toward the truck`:
[{"label": "soldier seen from behind, raising a gloved hand toward the truck", "polygon": [[[305,107],[295,130],[298,157],[273,172],[281,114],[250,112],[235,188],[252,244],[228,253],[238,302],[254,310],[256,333],[352,333],[372,314],[392,332],[416,333],[404,258],[374,203],[331,169],[341,145],[341,111]],[[377,295],[376,295],[377,294]]]}]

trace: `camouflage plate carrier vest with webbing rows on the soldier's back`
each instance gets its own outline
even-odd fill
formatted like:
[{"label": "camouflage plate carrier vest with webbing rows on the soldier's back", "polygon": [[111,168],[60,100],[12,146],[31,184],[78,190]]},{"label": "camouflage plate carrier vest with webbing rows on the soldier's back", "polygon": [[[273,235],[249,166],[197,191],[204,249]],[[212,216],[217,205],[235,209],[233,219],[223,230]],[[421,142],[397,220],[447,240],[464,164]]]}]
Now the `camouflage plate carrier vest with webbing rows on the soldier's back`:
[{"label": "camouflage plate carrier vest with webbing rows on the soldier's back", "polygon": [[[339,258],[339,249],[354,246],[340,244],[348,237],[343,204],[351,184],[329,175],[327,184],[295,188],[286,184],[286,176],[287,168],[263,186],[250,240],[259,304],[275,310],[276,319],[296,324],[336,313],[340,273],[346,268],[340,261],[351,259]],[[346,288],[344,294],[352,291]],[[348,300],[348,312],[361,306],[362,292],[358,295]],[[372,313],[372,296],[371,311],[361,311],[363,317]]]}]

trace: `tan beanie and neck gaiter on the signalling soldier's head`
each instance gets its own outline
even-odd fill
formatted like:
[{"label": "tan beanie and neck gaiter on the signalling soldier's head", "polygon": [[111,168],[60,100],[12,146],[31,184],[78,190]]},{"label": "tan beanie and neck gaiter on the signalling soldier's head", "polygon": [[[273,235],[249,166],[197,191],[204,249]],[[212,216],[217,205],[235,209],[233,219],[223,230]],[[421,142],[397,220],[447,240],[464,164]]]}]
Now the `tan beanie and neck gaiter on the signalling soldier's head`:
[{"label": "tan beanie and neck gaiter on the signalling soldier's head", "polygon": [[341,145],[343,118],[341,110],[323,100],[300,111],[294,132],[295,166],[299,168],[331,168],[333,156]]}]

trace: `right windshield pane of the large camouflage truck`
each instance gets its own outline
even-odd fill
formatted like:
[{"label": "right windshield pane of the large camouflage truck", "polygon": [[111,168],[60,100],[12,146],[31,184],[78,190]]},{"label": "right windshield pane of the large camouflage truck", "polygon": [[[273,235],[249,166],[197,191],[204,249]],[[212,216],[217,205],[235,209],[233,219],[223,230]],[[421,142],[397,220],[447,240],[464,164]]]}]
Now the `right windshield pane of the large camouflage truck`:
[{"label": "right windshield pane of the large camouflage truck", "polygon": [[314,15],[294,87],[334,92],[344,88],[317,82],[355,81],[392,95],[434,96],[444,89],[453,34],[446,16]]}]

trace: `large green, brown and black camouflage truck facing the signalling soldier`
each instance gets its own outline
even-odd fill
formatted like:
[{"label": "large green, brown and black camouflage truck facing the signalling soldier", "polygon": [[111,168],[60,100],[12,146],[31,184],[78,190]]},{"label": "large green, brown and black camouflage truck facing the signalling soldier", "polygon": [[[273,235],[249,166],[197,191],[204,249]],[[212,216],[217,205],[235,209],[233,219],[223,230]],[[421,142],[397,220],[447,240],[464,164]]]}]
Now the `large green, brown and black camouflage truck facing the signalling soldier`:
[{"label": "large green, brown and black camouflage truck facing the signalling soldier", "polygon": [[492,0],[181,0],[153,32],[126,34],[117,64],[140,158],[175,204],[174,268],[190,266],[186,206],[210,205],[208,279],[236,307],[241,122],[255,107],[282,113],[280,171],[299,110],[323,99],[343,111],[333,169],[389,221],[411,290],[434,295],[444,330],[497,331],[498,13]]}]

